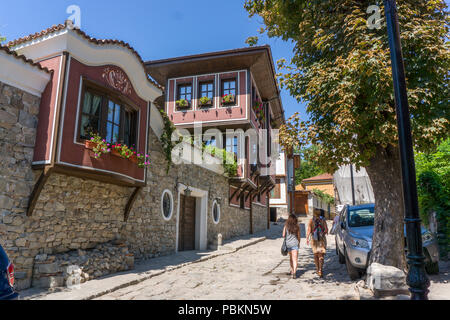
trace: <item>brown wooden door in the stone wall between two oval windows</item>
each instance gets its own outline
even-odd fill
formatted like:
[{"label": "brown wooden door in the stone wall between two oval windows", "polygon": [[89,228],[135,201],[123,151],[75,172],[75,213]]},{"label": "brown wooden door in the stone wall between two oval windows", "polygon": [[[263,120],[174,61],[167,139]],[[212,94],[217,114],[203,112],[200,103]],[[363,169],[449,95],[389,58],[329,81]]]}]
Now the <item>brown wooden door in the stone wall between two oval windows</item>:
[{"label": "brown wooden door in the stone wall between two oval windows", "polygon": [[180,195],[178,251],[195,250],[195,198]]}]

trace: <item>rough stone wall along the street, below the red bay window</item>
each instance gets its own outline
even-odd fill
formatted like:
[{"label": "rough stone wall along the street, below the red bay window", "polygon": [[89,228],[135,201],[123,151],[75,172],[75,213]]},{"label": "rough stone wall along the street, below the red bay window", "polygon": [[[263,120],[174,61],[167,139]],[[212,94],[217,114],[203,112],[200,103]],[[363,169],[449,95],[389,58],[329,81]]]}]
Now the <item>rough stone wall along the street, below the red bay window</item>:
[{"label": "rough stone wall along the street, below the red bay window", "polygon": [[[31,169],[39,98],[2,83],[0,92],[0,244],[15,264],[19,290],[30,287],[33,278],[39,286],[66,282],[63,275],[69,276],[69,273],[61,269],[64,266],[60,263],[66,257],[64,254],[70,260],[70,257],[80,256],[77,250],[86,251],[87,256],[97,250],[98,257],[104,257],[107,249],[99,245],[113,241],[123,243],[129,254],[138,260],[174,253],[177,216],[174,212],[169,221],[163,219],[161,195],[164,190],[170,190],[176,210],[177,182],[208,191],[208,243],[213,242],[218,233],[224,240],[249,233],[250,212],[229,206],[227,178],[187,164],[174,165],[166,173],[166,159],[152,130],[149,130],[152,165],[148,170],[148,183],[127,222],[124,209],[133,188],[56,173],[51,174],[45,184],[33,216],[27,217],[31,190],[40,175],[39,171]],[[211,213],[215,198],[222,199],[218,224],[213,222]],[[259,205],[253,208],[253,229],[257,232],[267,226],[267,209]],[[39,260],[43,255],[46,260]],[[41,272],[39,265],[52,264],[51,260],[59,261],[58,272]],[[75,265],[80,266],[78,262]],[[108,266],[99,267],[102,275],[119,270],[114,264]],[[95,277],[89,264],[84,267],[90,272],[83,271],[88,278]],[[75,269],[72,271],[78,274]]]}]

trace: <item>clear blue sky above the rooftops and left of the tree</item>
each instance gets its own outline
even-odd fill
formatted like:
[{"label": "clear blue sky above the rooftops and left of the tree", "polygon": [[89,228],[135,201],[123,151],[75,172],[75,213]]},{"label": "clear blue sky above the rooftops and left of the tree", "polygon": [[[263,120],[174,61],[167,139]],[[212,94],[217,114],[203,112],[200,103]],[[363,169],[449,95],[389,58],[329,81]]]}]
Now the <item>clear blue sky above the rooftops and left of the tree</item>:
[{"label": "clear blue sky above the rooftops and left of the tree", "polygon": [[[259,17],[249,18],[244,0],[14,0],[0,10],[0,34],[13,40],[63,23],[69,5],[81,8],[81,29],[95,38],[130,43],[144,61],[246,47],[258,35]],[[292,56],[292,44],[260,37],[275,62]],[[283,90],[286,117],[305,106]]]}]

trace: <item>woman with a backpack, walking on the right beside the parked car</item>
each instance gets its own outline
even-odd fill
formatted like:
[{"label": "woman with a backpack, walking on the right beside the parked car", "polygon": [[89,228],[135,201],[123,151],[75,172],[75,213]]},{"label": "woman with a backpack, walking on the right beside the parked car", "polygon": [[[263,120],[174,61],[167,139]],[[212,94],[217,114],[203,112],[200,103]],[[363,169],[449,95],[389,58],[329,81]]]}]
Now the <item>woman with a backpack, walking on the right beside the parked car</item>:
[{"label": "woman with a backpack, walking on the right beside the parked car", "polygon": [[325,253],[327,252],[328,227],[326,220],[320,217],[320,211],[314,210],[314,216],[308,223],[308,233],[306,235],[306,243],[309,245],[311,239],[311,248],[314,253],[314,263],[319,277],[323,278],[323,263],[325,261]]}]

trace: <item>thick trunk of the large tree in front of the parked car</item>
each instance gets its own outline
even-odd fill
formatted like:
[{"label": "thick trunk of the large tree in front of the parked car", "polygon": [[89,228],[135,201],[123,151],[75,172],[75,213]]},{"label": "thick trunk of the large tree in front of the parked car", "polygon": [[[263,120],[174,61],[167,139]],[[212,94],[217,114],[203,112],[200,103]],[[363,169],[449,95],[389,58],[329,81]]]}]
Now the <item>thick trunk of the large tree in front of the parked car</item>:
[{"label": "thick trunk of the large tree in front of the parked car", "polygon": [[375,195],[375,223],[370,264],[406,271],[404,207],[398,147],[377,147],[366,168]]}]

